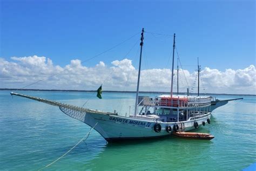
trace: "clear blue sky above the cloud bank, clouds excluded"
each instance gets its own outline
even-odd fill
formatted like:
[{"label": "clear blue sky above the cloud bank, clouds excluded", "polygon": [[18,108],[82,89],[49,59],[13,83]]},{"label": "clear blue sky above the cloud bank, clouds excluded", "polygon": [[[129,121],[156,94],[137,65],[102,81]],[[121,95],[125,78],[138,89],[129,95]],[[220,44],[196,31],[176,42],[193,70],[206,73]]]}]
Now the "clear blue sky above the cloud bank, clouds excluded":
[{"label": "clear blue sky above the cloud bank, clouds excluded", "polygon": [[[142,27],[176,33],[183,65],[196,65],[197,57],[203,67],[220,71],[255,65],[254,1],[2,0],[0,57],[45,56],[65,66],[122,42]],[[86,66],[123,59],[138,39],[139,35]],[[145,34],[149,67],[169,67],[171,47],[172,37]],[[137,47],[127,58],[134,60],[136,51]]]}]

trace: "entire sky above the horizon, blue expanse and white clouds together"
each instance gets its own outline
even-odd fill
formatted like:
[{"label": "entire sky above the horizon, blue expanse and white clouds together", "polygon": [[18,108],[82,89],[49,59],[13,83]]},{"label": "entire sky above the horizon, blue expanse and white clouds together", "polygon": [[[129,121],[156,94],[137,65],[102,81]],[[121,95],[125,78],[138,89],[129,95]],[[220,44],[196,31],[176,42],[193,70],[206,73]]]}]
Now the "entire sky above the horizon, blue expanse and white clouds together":
[{"label": "entire sky above the horizon, blue expanse and white clouds together", "polygon": [[176,33],[180,91],[194,90],[199,57],[201,90],[256,94],[254,1],[1,0],[0,11],[0,88],[134,91],[145,28],[140,90],[170,91]]}]

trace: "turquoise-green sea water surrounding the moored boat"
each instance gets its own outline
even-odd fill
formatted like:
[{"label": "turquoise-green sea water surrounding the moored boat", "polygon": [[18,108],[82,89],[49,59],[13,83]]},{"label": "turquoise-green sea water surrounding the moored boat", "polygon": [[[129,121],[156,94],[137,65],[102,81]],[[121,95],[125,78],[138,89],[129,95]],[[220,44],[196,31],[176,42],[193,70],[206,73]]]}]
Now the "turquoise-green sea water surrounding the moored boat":
[{"label": "turquoise-green sea water surrounding the moored boat", "polygon": [[[68,104],[129,114],[133,93],[19,92]],[[107,143],[96,131],[64,158],[43,170],[241,170],[256,162],[256,97],[240,98],[212,112],[211,141],[164,138]],[[0,170],[38,170],[68,152],[90,127],[58,107],[0,91]],[[133,108],[133,107],[131,107]],[[133,111],[133,110],[131,110]],[[131,112],[132,113],[132,112]]]}]

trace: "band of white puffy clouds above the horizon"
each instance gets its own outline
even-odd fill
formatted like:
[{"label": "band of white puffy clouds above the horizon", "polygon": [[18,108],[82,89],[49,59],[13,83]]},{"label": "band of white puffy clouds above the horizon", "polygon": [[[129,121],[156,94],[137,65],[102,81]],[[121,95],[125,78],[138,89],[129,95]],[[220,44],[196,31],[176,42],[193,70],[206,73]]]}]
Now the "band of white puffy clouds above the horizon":
[{"label": "band of white puffy clouds above the horizon", "polygon": [[[21,88],[40,81],[26,88],[96,90],[103,84],[105,90],[135,91],[137,70],[132,60],[114,60],[111,66],[100,61],[96,66],[84,66],[80,60],[74,59],[69,65],[54,65],[46,57],[12,57],[12,61],[0,58],[1,88]],[[59,73],[60,72],[60,73]],[[56,74],[59,73],[59,74]],[[186,76],[186,79],[184,77]],[[255,66],[246,69],[224,72],[205,67],[200,73],[201,92],[255,94]],[[47,79],[45,79],[47,78]],[[179,71],[180,92],[186,92],[187,83],[193,91],[197,89],[197,72]],[[141,91],[170,91],[171,70],[142,70],[140,79]],[[174,76],[174,92],[177,87],[177,71]],[[203,91],[205,89],[205,91]]]}]

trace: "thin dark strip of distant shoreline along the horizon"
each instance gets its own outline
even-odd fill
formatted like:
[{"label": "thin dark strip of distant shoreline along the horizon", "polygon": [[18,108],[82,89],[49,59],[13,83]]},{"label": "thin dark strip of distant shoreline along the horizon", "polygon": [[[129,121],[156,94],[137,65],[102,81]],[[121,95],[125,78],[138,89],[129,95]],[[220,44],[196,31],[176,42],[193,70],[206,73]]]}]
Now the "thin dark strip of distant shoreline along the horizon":
[{"label": "thin dark strip of distant shoreline along the horizon", "polygon": [[[54,92],[97,92],[97,90],[55,90],[55,89],[19,89],[19,88],[0,88],[1,90],[10,90],[10,91],[54,91]],[[136,91],[110,91],[105,90],[103,92],[106,93],[136,93]],[[149,91],[139,91],[140,93],[152,93],[152,94],[168,94],[170,92],[149,92]],[[174,92],[175,94],[175,92]],[[187,94],[185,92],[180,92],[180,94]],[[197,94],[197,93],[190,93],[190,94]],[[224,93],[201,93],[201,95],[251,95],[255,96],[256,94],[224,94]]]}]

